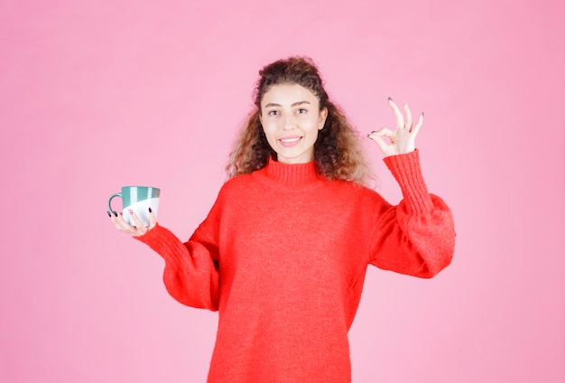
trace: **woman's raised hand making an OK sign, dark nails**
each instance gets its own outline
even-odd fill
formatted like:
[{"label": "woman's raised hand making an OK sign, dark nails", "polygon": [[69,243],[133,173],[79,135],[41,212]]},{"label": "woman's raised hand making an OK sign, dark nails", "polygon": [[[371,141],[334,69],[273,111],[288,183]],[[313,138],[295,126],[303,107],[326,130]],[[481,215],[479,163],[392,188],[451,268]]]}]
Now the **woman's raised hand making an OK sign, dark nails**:
[{"label": "woman's raised hand making an OK sign, dark nails", "polygon": [[[388,98],[388,105],[393,109],[396,118],[396,129],[394,131],[383,127],[380,130],[369,133],[367,136],[375,141],[383,151],[385,157],[389,155],[405,154],[413,152],[416,145],[416,135],[423,123],[423,113],[418,117],[416,125],[413,125],[412,112],[408,104],[404,103],[403,109],[406,119],[399,107],[394,104],[392,98]],[[385,140],[386,137],[388,140]]]}]

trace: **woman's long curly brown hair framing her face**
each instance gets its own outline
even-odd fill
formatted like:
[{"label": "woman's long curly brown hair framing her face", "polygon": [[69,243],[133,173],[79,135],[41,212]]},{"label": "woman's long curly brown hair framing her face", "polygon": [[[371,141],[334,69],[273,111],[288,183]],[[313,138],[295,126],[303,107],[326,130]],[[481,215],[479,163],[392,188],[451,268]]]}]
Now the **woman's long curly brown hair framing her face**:
[{"label": "woman's long curly brown hair framing her face", "polygon": [[259,115],[264,94],[279,84],[298,84],[309,89],[319,99],[320,111],[324,107],[328,109],[326,123],[314,144],[318,172],[330,180],[366,184],[371,172],[356,130],[339,107],[329,100],[316,65],[311,59],[302,57],[274,61],[259,71],[254,91],[255,108],[247,117],[230,154],[227,176],[255,172],[263,168],[271,156],[276,156],[264,135]]}]

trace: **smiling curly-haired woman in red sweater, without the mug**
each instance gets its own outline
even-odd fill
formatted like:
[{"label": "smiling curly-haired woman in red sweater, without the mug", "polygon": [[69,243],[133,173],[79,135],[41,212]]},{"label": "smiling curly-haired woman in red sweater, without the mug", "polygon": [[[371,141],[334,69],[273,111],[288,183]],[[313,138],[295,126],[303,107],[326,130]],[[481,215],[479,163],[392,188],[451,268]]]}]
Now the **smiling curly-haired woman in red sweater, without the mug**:
[{"label": "smiling curly-haired woman in red sweater, without the mug", "polygon": [[449,265],[451,212],[423,182],[412,120],[389,98],[394,130],[368,136],[403,192],[392,206],[364,186],[355,131],[307,59],[260,71],[255,110],[231,154],[231,177],[192,237],[108,214],[165,260],[181,304],[217,310],[209,382],[347,382],[347,332],[366,267],[431,277]]}]

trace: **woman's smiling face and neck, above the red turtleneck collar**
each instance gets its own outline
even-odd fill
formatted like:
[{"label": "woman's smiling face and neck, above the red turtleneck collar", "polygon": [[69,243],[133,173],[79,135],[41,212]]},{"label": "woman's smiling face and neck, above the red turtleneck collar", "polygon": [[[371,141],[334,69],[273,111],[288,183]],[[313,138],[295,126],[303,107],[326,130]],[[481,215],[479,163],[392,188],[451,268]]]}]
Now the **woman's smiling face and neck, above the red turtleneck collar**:
[{"label": "woman's smiling face and neck, above the red turtleneck collar", "polygon": [[269,145],[281,163],[314,160],[314,143],[324,127],[328,109],[298,84],[273,85],[261,100],[259,119]]}]

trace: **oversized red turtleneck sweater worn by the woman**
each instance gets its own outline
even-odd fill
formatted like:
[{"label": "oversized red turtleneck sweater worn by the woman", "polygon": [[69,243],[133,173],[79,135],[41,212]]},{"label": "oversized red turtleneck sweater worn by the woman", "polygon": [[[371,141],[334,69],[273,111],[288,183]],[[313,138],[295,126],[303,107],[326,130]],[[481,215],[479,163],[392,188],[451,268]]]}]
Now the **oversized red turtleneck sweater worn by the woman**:
[{"label": "oversized red turtleneck sweater worn by the woman", "polygon": [[418,152],[384,161],[397,206],[313,162],[270,161],[226,182],[188,242],[159,225],[138,237],[164,258],[175,299],[219,312],[209,382],[350,381],[367,265],[420,277],[449,265],[451,212],[428,193]]}]

